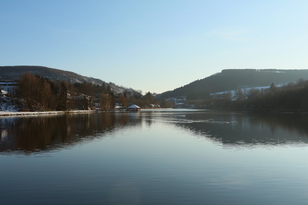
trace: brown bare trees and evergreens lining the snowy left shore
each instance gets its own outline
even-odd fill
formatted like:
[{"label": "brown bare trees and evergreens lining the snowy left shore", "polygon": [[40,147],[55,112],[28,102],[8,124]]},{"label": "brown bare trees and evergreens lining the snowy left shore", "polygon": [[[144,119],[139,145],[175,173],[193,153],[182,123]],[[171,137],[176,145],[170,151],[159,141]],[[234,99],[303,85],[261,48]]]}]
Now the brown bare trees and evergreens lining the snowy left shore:
[{"label": "brown bare trees and evergreens lining the snowy left shore", "polygon": [[27,110],[70,110],[75,108],[74,99],[78,99],[80,109],[99,107],[114,108],[116,103],[122,107],[137,104],[144,107],[159,104],[155,93],[142,95],[141,90],[126,89],[114,93],[109,84],[71,83],[69,81],[51,81],[48,78],[24,73],[18,80],[19,89],[16,99]]}]

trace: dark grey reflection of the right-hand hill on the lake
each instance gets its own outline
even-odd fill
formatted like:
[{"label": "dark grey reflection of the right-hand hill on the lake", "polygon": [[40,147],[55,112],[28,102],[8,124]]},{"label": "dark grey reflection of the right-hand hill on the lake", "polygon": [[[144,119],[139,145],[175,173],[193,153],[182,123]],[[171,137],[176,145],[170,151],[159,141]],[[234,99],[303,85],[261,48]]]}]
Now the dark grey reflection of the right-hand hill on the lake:
[{"label": "dark grey reflection of the right-hand hill on the lake", "polygon": [[[198,113],[197,115],[200,115]],[[190,120],[197,115],[188,115]],[[308,115],[294,113],[206,113],[206,122],[178,124],[227,147],[253,145],[306,146]],[[200,117],[197,117],[200,119]],[[211,123],[215,119],[216,122]],[[226,123],[228,122],[228,123]]]}]

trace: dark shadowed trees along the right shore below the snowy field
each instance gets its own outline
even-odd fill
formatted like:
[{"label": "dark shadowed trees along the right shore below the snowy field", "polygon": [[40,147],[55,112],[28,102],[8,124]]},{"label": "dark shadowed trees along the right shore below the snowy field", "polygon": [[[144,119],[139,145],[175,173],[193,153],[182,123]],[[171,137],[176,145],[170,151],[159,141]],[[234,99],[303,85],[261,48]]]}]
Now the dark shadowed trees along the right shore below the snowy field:
[{"label": "dark shadowed trees along the right shore below the snowy field", "polygon": [[268,89],[250,89],[246,93],[237,91],[235,99],[225,93],[215,99],[205,100],[216,108],[260,108],[260,109],[300,109],[308,110],[308,81],[299,79],[297,83],[277,87],[272,83]]}]

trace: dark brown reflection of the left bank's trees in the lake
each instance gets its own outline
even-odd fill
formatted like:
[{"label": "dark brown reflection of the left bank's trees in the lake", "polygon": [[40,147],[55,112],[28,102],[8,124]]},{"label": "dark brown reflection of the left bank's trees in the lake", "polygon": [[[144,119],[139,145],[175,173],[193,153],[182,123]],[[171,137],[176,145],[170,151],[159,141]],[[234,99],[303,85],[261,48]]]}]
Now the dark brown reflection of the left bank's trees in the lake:
[{"label": "dark brown reflection of the left bank's trees in the lake", "polygon": [[[2,117],[0,152],[33,153],[69,148],[128,125],[133,115],[59,114]],[[130,126],[134,126],[131,124]]]}]

